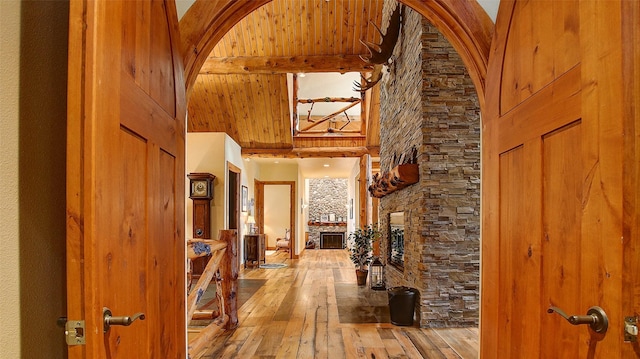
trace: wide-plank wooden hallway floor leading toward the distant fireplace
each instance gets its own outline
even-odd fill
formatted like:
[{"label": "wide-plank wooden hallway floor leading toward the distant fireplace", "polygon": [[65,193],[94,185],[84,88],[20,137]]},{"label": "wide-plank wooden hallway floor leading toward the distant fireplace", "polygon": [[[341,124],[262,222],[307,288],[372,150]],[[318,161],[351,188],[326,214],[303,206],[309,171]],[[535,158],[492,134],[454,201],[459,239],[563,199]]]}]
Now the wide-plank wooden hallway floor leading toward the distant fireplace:
[{"label": "wide-plank wooden hallway floor leading toward the distant fireplace", "polygon": [[264,284],[242,298],[239,327],[195,358],[478,357],[477,328],[389,323],[386,291],[358,287],[345,250],[307,250],[298,260],[276,253],[267,263],[287,267],[241,269],[241,280]]}]

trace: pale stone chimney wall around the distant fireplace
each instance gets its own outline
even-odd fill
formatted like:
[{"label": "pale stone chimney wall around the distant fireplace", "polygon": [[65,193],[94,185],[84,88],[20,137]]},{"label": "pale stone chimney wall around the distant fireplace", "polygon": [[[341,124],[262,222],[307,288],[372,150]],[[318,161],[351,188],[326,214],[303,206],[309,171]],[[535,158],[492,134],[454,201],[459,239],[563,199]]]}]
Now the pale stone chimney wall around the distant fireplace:
[{"label": "pale stone chimney wall around the distant fireplace", "polygon": [[[312,178],[309,180],[309,240],[320,248],[321,232],[346,232],[348,187],[346,178]],[[335,214],[335,221],[322,221],[323,215]],[[339,221],[342,219],[342,222]],[[345,235],[346,236],[346,235]]]}]

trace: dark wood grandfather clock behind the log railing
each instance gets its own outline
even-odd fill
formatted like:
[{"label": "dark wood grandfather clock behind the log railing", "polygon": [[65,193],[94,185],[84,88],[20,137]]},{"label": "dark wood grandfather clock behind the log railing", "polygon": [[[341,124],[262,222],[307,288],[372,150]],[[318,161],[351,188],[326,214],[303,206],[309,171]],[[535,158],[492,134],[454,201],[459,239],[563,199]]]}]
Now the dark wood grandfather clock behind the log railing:
[{"label": "dark wood grandfather clock behind the log railing", "polygon": [[[213,180],[211,173],[189,173],[189,198],[193,201],[193,238],[211,238],[211,200],[213,199]],[[191,261],[191,280],[199,278],[211,255]],[[190,282],[191,282],[190,280]]]}]

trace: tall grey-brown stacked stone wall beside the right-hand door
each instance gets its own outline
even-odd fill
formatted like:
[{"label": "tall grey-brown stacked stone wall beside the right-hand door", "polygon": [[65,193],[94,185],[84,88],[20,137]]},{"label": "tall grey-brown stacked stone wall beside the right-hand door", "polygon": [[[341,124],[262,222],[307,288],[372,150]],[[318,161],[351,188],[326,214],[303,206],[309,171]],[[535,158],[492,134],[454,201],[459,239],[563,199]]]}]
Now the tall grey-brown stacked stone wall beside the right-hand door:
[{"label": "tall grey-brown stacked stone wall beside the right-hand door", "polygon": [[[386,1],[385,12],[394,6]],[[394,155],[408,155],[415,147],[420,181],[380,200],[385,258],[388,213],[405,212],[404,268],[387,266],[387,286],[419,289],[422,327],[477,326],[478,99],[462,60],[442,34],[409,8],[405,18],[393,65],[381,81],[381,169],[389,170]]]}]

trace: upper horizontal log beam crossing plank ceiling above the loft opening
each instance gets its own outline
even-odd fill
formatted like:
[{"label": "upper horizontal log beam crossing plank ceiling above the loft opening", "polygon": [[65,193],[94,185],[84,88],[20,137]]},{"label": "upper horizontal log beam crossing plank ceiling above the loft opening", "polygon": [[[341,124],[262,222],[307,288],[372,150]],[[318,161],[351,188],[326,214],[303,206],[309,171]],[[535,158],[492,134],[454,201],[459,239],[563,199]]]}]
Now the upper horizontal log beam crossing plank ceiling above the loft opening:
[{"label": "upper horizontal log beam crossing plank ceiling above the loft opening", "polygon": [[210,57],[200,74],[281,74],[299,72],[367,72],[371,65],[358,55]]}]

